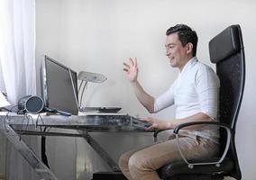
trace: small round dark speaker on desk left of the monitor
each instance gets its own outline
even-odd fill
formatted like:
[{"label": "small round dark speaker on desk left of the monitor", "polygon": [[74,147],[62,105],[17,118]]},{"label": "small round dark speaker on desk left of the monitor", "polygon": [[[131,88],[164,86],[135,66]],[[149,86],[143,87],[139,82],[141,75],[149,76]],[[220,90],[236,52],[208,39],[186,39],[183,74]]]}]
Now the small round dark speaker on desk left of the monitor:
[{"label": "small round dark speaker on desk left of the monitor", "polygon": [[36,95],[26,95],[18,102],[18,108],[23,112],[38,113],[43,107],[43,100]]}]

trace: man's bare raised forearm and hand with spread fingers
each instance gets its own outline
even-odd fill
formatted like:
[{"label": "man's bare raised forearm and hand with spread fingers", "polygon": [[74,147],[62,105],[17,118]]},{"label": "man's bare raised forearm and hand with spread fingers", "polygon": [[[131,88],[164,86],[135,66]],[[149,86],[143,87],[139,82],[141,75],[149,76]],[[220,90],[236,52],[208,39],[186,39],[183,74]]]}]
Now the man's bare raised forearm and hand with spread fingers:
[{"label": "man's bare raised forearm and hand with spread fingers", "polygon": [[133,86],[133,91],[142,105],[149,112],[154,112],[154,97],[144,91],[137,79],[139,72],[137,58],[129,58],[129,60],[130,63],[123,63],[123,70],[127,72],[131,85]]}]

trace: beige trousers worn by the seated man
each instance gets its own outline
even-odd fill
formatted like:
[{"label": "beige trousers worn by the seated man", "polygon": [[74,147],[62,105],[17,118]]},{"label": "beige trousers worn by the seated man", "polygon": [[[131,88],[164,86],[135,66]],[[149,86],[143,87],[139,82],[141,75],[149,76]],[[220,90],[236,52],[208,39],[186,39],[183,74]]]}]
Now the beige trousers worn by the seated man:
[{"label": "beige trousers worn by the seated man", "polygon": [[[215,157],[219,148],[214,141],[200,137],[182,137],[179,142],[187,159]],[[171,136],[167,141],[124,153],[119,158],[119,167],[129,180],[160,180],[156,170],[181,158],[176,139]]]}]

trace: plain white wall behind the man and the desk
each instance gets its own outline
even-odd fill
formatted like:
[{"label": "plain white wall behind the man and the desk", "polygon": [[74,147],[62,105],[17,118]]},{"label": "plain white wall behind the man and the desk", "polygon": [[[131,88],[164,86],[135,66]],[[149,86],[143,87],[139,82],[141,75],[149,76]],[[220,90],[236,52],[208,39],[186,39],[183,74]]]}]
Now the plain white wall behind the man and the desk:
[{"label": "plain white wall behind the man and the desk", "polygon": [[[84,105],[120,106],[122,112],[139,116],[150,114],[136,100],[123,73],[123,61],[137,57],[142,85],[150,94],[159,95],[178,74],[177,69],[169,67],[165,57],[165,31],[169,26],[187,23],[194,28],[199,37],[197,57],[210,64],[208,41],[230,24],[240,24],[246,85],[236,142],[243,179],[253,179],[256,169],[255,1],[37,0],[36,3],[37,58],[47,54],[76,71],[104,74],[108,78],[104,84],[88,85]],[[154,116],[172,119],[174,111],[169,108]]]}]

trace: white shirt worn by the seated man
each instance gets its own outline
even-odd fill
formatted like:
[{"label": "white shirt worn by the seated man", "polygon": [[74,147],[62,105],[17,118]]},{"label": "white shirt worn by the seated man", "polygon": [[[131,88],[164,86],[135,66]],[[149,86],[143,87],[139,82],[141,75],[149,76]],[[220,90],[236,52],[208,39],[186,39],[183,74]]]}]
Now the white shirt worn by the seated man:
[{"label": "white shirt worn by the seated man", "polygon": [[[199,62],[196,57],[191,58],[169,90],[156,98],[154,112],[174,104],[177,119],[204,112],[217,120],[219,86],[219,78],[215,71]],[[218,134],[213,134],[215,130],[211,129],[186,131],[190,131],[189,134],[194,138],[195,135],[205,138],[218,137]]]}]

